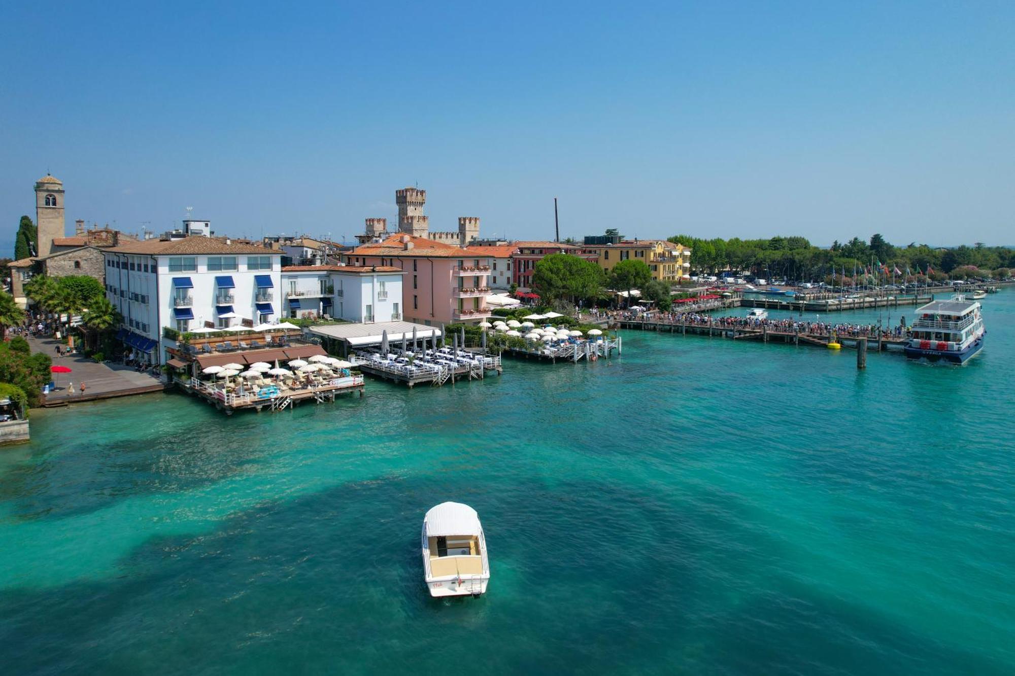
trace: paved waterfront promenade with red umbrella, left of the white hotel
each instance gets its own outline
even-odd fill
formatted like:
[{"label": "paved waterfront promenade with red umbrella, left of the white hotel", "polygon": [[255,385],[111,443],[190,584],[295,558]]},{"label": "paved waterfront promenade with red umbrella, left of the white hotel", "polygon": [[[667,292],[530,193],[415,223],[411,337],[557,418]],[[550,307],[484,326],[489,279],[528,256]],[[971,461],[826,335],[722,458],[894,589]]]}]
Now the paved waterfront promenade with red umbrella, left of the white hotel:
[{"label": "paved waterfront promenade with red umbrella, left of the white hotel", "polygon": [[[149,371],[138,371],[133,366],[121,363],[96,363],[81,354],[57,356],[57,345],[61,341],[52,338],[27,337],[32,352],[43,352],[53,357],[53,365],[68,366],[69,374],[54,374],[56,389],[46,395],[44,406],[66,406],[67,404],[111,399],[127,395],[161,392],[165,385]],[[71,394],[69,385],[74,384]],[[81,393],[81,383],[85,391]]]}]

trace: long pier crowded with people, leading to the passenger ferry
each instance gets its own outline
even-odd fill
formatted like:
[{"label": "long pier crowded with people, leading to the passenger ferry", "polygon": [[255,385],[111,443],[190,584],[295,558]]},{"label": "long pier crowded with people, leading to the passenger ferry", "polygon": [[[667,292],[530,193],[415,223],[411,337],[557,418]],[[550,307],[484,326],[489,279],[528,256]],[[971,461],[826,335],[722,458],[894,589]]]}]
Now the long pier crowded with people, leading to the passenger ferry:
[{"label": "long pier crowded with people, leading to the passenger ferry", "polygon": [[709,336],[719,338],[729,338],[732,340],[760,340],[761,342],[776,342],[790,345],[816,345],[827,347],[834,337],[835,342],[843,347],[859,347],[860,341],[866,341],[872,349],[879,351],[887,350],[889,347],[904,347],[908,342],[905,336],[891,336],[882,334],[871,335],[850,335],[828,333],[811,333],[800,330],[777,330],[767,325],[760,327],[728,326],[718,323],[698,322],[657,322],[644,320],[619,320],[618,324],[622,329],[634,329],[639,331],[655,331],[657,333],[687,334],[697,336]]}]

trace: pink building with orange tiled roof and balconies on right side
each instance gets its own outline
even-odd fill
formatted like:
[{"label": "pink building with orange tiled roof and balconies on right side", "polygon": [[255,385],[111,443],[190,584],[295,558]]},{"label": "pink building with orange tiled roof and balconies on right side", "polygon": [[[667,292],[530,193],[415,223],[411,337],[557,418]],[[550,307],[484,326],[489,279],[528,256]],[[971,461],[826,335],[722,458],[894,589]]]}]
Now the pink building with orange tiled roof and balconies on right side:
[{"label": "pink building with orange tiled roof and balconies on right side", "polygon": [[436,326],[475,324],[490,317],[490,261],[482,247],[460,248],[398,232],[345,254],[349,265],[393,266],[402,277],[402,316]]}]

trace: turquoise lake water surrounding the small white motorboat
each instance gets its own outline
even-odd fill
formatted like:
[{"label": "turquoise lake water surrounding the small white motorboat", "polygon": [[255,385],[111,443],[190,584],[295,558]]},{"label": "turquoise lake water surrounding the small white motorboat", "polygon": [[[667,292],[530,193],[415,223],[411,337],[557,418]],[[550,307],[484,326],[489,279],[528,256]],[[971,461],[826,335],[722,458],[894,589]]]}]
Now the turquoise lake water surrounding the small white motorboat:
[{"label": "turquoise lake water surrounding the small white motorboat", "polygon": [[[1011,674],[1015,292],[983,302],[964,366],[626,332],[611,362],[281,414],[40,411],[0,450],[0,663]],[[422,584],[448,499],[483,521],[483,598]]]}]

